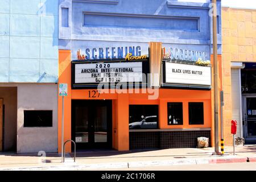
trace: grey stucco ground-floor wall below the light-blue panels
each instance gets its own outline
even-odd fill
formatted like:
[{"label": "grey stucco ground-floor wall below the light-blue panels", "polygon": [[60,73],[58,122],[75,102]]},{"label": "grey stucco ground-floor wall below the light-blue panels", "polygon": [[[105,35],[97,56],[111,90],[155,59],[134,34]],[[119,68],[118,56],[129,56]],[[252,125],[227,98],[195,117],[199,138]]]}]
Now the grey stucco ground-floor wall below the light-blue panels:
[{"label": "grey stucco ground-floor wall below the light-blue panels", "polygon": [[[0,84],[5,104],[5,151],[57,151],[57,84]],[[52,127],[23,127],[24,110],[52,110]]]}]

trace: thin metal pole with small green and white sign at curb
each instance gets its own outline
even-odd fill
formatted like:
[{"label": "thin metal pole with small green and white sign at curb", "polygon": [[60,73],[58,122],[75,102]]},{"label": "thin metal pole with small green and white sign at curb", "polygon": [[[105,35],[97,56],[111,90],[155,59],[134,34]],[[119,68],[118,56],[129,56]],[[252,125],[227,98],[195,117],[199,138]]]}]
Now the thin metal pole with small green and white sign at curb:
[{"label": "thin metal pole with small green and white sign at curb", "polygon": [[59,96],[62,96],[61,162],[64,162],[64,160],[63,160],[63,144],[64,144],[64,96],[68,96],[68,84],[59,84]]}]

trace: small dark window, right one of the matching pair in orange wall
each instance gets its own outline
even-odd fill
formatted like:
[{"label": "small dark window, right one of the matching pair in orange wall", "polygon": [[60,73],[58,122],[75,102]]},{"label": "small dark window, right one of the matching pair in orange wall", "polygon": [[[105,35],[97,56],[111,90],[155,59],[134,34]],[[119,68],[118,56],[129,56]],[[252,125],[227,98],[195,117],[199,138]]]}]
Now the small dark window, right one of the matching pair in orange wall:
[{"label": "small dark window, right one of the matching pair in orange wall", "polygon": [[204,125],[204,103],[188,103],[189,125]]}]

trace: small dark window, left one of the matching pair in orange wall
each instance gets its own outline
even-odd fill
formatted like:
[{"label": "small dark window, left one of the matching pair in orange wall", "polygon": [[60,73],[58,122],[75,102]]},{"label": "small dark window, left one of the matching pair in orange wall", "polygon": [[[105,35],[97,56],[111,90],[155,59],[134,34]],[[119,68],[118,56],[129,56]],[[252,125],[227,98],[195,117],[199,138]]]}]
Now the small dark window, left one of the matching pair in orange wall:
[{"label": "small dark window, left one of the matching pair in orange wall", "polygon": [[183,125],[182,102],[170,102],[167,104],[168,125]]}]

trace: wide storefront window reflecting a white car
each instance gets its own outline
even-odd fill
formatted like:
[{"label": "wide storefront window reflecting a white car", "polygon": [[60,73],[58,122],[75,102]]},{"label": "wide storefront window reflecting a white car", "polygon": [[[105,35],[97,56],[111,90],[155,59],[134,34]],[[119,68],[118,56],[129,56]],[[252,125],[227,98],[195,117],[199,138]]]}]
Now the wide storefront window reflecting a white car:
[{"label": "wide storefront window reflecting a white car", "polygon": [[158,129],[158,105],[130,105],[129,129]]}]

